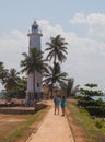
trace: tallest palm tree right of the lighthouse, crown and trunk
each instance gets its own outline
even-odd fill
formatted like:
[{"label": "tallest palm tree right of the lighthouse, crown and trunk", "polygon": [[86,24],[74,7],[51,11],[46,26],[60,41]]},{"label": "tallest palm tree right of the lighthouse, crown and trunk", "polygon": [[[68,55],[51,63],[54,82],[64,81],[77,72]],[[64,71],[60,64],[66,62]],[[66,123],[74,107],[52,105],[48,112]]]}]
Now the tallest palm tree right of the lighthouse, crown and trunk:
[{"label": "tallest palm tree right of the lighthouse, crown and trunk", "polygon": [[[45,49],[45,51],[49,51],[47,55],[47,60],[51,61],[54,60],[54,67],[50,67],[50,86],[51,86],[51,95],[52,95],[52,87],[55,84],[55,80],[59,83],[61,83],[61,80],[58,79],[57,76],[57,68],[58,68],[58,72],[60,72],[60,66],[58,66],[60,62],[63,62],[67,58],[66,55],[67,52],[67,47],[66,45],[68,45],[68,43],[65,42],[65,38],[62,38],[60,35],[57,35],[56,37],[50,37],[50,43],[47,42],[46,45],[48,46],[48,48]],[[58,73],[58,74],[59,74]],[[56,74],[56,75],[55,75]],[[60,75],[60,74],[59,74]],[[63,78],[67,75],[66,73],[61,74],[63,75]],[[56,79],[57,78],[57,79]],[[61,76],[60,76],[61,79]],[[48,80],[48,79],[47,79]]]}]

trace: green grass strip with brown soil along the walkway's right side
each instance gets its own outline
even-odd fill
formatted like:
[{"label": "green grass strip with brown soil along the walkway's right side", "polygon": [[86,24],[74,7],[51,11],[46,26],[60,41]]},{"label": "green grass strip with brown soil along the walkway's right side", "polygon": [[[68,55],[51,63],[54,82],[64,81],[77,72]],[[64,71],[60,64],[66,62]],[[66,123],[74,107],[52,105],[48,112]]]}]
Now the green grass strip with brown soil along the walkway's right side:
[{"label": "green grass strip with brown soil along the walkway's right side", "polygon": [[[82,137],[84,137],[85,139],[85,141],[83,142],[105,142],[105,122],[103,121],[103,127],[96,127],[97,121],[102,122],[102,119],[92,119],[90,114],[85,109],[77,107],[77,100],[68,100],[67,107],[73,118],[74,125],[80,128]],[[68,115],[68,118],[70,117],[70,115]],[[70,119],[68,120],[71,125]],[[74,138],[77,139],[79,135],[75,133],[77,130],[74,131],[72,125],[71,130]]]}]

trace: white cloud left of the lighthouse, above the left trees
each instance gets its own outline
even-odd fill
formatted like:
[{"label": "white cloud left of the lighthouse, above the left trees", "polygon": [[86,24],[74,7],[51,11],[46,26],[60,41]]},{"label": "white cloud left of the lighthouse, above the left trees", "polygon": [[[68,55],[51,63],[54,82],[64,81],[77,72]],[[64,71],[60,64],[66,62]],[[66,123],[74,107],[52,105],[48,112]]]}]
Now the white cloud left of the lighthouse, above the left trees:
[{"label": "white cloud left of the lighthouse, above the left trees", "polygon": [[0,37],[0,61],[2,61],[5,68],[16,68],[20,70],[20,61],[22,59],[22,52],[27,51],[27,38],[26,35],[12,31],[3,37]]}]

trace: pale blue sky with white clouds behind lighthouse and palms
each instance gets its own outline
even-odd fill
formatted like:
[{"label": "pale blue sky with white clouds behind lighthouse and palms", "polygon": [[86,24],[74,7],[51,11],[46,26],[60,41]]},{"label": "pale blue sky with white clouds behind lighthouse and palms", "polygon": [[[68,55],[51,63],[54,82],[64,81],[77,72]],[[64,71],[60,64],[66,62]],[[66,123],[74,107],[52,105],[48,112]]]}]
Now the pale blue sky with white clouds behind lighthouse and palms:
[{"label": "pale blue sky with white clouds behind lighthouse and palms", "polygon": [[105,92],[105,0],[0,0],[0,61],[7,69],[21,70],[35,20],[43,33],[42,50],[59,34],[68,43],[61,67],[74,85],[96,83]]}]

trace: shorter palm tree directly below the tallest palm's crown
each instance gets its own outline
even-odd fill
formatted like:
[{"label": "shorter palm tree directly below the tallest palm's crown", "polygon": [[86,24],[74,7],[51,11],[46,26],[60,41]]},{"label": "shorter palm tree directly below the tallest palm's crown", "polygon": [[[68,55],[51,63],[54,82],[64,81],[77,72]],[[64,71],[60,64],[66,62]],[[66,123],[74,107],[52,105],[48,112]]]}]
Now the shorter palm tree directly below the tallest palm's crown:
[{"label": "shorter palm tree directly below the tallest palm's crown", "polygon": [[45,80],[44,82],[49,86],[51,90],[51,98],[52,98],[52,90],[54,90],[54,84],[58,83],[59,86],[65,84],[67,73],[61,72],[59,63],[55,63],[54,68],[49,67],[49,72],[45,73]]}]

